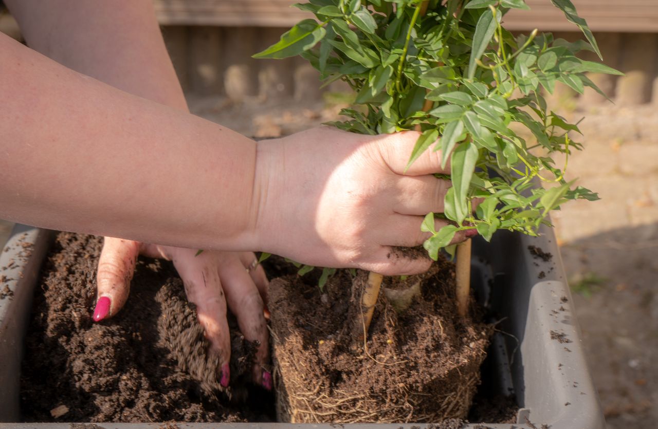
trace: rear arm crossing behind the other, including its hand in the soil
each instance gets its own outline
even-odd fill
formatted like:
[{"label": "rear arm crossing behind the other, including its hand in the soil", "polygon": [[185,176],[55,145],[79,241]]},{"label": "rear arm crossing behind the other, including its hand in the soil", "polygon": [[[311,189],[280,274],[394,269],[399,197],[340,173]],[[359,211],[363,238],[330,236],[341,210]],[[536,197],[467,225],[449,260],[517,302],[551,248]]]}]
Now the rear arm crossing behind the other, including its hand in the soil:
[{"label": "rear arm crossing behind the other, including its hand in the soil", "polygon": [[[11,7],[32,49],[114,88],[188,111],[152,2],[58,0],[44,4],[24,0],[11,2]],[[116,315],[123,307],[139,253],[173,261],[211,348],[218,354],[224,385],[230,378],[228,300],[245,338],[261,344],[252,372],[253,381],[261,384],[262,374],[268,374],[264,369],[268,332],[263,317],[267,279],[260,266],[245,272],[255,260],[253,253],[207,251],[197,257],[196,249],[105,237],[94,320]]]}]

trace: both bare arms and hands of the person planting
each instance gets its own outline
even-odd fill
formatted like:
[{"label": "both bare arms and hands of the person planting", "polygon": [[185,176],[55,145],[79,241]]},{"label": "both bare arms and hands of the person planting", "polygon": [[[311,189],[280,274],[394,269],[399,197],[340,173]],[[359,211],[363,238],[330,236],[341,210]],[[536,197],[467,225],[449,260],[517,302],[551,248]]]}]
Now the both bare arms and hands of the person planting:
[{"label": "both bare arms and hands of the person planting", "polygon": [[150,1],[5,3],[34,50],[0,35],[0,216],[116,237],[99,263],[97,320],[125,303],[140,251],[165,257],[222,367],[230,309],[261,341],[253,379],[268,387],[267,280],[251,251],[382,274],[430,265],[391,256],[428,238],[423,216],[447,189],[432,176],[440,153],[405,172],[417,133],[315,128],[256,143],[187,112]]}]

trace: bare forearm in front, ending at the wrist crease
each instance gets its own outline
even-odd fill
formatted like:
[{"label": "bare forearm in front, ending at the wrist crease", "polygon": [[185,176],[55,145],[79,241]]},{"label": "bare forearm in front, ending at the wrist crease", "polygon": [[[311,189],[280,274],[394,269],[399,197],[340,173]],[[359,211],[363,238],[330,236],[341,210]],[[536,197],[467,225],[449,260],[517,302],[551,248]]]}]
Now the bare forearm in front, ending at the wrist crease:
[{"label": "bare forearm in front, ending at the wrist crease", "polygon": [[0,52],[1,216],[170,245],[257,248],[253,141],[6,36]]}]

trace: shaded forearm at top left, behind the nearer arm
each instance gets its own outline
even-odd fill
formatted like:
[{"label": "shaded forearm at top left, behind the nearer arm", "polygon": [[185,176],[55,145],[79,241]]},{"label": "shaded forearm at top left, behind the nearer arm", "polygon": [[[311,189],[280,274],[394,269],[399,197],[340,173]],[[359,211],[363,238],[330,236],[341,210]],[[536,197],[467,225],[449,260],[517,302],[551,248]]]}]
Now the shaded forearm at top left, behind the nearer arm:
[{"label": "shaded forearm at top left, behind the nearer arm", "polygon": [[28,46],[114,88],[187,110],[151,0],[7,0]]}]

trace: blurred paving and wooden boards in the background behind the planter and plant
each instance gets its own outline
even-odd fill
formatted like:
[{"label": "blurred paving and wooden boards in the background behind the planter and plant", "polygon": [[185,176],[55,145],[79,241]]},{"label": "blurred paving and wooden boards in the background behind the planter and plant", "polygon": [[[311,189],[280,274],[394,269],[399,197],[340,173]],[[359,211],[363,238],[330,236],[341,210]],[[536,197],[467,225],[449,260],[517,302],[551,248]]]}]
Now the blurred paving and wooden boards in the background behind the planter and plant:
[{"label": "blurred paving and wooden boards in the background behind the planter and plant", "polygon": [[[320,89],[302,59],[255,60],[308,16],[291,0],[155,0],[163,36],[190,109],[245,136],[277,137],[338,116],[350,100],[340,83]],[[580,38],[549,0],[507,15],[515,32],[534,28]],[[604,61],[625,76],[590,78],[594,91],[558,87],[553,109],[580,120],[584,153],[567,179],[601,201],[570,203],[553,215],[594,382],[609,427],[658,422],[658,1],[573,0],[595,33]],[[13,18],[0,32],[21,39]],[[589,57],[588,59],[594,59]],[[0,220],[0,245],[11,223]]]}]

